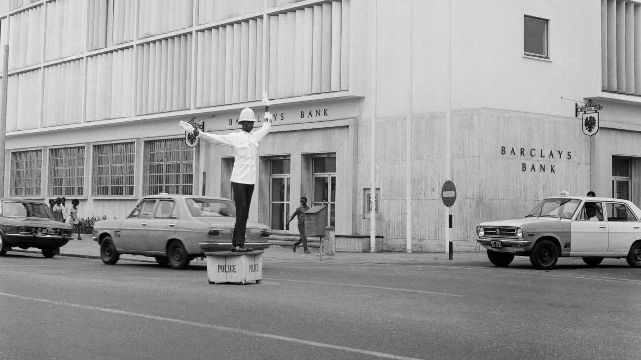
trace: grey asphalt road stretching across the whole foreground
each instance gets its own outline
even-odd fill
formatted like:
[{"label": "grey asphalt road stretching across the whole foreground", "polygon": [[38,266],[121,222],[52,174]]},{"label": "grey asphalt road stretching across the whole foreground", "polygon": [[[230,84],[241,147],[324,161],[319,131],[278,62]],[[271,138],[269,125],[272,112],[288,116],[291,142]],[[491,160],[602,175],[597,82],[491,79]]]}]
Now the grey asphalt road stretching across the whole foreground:
[{"label": "grey asphalt road stretching across the whole foreground", "polygon": [[263,263],[261,284],[206,265],[0,258],[0,359],[633,359],[641,269],[515,259]]}]

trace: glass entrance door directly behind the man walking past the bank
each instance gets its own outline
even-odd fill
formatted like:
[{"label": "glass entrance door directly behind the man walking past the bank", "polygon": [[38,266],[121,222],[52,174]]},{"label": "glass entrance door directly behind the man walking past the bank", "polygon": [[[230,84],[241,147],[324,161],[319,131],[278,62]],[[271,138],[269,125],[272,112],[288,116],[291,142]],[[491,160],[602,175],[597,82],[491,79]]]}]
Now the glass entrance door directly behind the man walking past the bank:
[{"label": "glass entrance door directly behind the man walking past the bank", "polygon": [[327,225],[336,224],[336,156],[313,158],[313,206],[328,206]]}]

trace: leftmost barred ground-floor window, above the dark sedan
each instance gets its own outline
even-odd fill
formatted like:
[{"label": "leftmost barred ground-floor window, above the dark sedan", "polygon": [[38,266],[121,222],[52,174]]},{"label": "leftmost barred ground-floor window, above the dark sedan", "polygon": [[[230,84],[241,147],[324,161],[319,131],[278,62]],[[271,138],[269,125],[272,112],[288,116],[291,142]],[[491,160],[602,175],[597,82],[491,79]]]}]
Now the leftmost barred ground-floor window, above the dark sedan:
[{"label": "leftmost barred ground-floor window, above the dark sedan", "polygon": [[42,150],[12,152],[11,196],[40,196],[41,185]]}]

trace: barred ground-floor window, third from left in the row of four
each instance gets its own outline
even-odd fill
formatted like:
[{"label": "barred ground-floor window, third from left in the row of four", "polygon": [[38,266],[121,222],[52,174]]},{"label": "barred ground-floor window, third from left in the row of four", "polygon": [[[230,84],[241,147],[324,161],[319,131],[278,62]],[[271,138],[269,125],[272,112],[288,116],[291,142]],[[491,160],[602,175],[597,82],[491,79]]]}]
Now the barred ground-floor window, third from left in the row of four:
[{"label": "barred ground-floor window, third from left in the row of four", "polygon": [[95,145],[92,159],[92,195],[133,195],[135,143]]}]

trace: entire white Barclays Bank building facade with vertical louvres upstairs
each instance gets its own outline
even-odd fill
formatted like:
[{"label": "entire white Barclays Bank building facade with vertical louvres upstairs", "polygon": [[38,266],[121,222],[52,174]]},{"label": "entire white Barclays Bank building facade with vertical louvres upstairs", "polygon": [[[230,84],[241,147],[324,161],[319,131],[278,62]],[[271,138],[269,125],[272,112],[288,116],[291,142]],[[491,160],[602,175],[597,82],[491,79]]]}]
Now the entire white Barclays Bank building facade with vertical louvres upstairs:
[{"label": "entire white Barclays Bank building facade with vertical louvres upstairs", "polygon": [[[286,222],[304,196],[328,202],[337,234],[369,235],[372,151],[384,250],[444,251],[447,236],[479,250],[478,222],[560,190],[640,205],[639,6],[0,1],[4,193],[109,218],[159,192],[231,198],[231,149],[188,147],[178,122],[237,131],[250,107],[258,127],[265,91],[276,120],[250,218],[274,234],[296,234]],[[588,99],[603,106],[593,136],[575,116]]]}]

